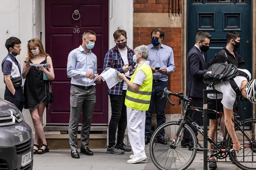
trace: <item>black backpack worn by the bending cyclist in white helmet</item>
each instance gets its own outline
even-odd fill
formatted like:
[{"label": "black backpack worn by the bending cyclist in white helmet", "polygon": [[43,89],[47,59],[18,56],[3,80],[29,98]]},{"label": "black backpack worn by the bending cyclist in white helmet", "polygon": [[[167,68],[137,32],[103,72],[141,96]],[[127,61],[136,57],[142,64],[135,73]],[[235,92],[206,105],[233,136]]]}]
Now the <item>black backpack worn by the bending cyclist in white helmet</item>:
[{"label": "black backpack worn by the bending cyclist in white helmet", "polygon": [[245,72],[238,70],[235,65],[216,63],[211,65],[204,73],[203,82],[204,84],[207,84],[209,87],[211,87],[212,85],[228,80],[237,96],[239,96],[240,89],[233,79],[238,75],[245,77],[247,81],[249,81],[249,76]]}]

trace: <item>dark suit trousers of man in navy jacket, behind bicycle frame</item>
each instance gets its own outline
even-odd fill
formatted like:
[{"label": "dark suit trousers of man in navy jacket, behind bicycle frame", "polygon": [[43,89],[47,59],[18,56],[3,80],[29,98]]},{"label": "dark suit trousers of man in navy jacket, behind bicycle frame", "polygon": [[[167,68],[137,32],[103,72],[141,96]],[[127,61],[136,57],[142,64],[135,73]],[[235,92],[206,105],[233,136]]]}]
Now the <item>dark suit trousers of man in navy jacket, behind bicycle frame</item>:
[{"label": "dark suit trousers of man in navy jacket, behind bicycle frame", "polygon": [[[194,107],[203,107],[203,98],[198,98],[198,97],[191,97],[192,101],[191,101],[191,107],[194,106]],[[188,112],[188,116],[196,123],[200,126],[200,123],[202,121],[202,115],[203,115],[203,112],[199,112],[199,111],[189,111]],[[194,126],[190,126],[191,129],[195,132],[195,135],[197,136],[198,135],[198,132],[197,130],[194,128]],[[192,142],[192,137],[189,136],[189,133],[187,130],[184,131],[184,137],[183,139],[185,141],[188,141],[188,142]],[[197,139],[198,141],[198,139]]]}]

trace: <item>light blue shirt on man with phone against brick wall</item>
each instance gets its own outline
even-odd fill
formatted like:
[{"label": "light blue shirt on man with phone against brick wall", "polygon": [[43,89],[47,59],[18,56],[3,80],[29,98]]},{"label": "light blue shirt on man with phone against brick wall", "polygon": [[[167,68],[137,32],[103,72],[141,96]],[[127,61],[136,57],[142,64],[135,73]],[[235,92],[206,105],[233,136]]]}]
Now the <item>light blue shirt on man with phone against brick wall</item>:
[{"label": "light blue shirt on man with phone against brick wall", "polygon": [[150,67],[160,67],[167,69],[166,73],[154,73],[153,79],[167,81],[167,75],[175,70],[172,48],[161,44],[159,49],[155,49],[153,44],[150,44],[147,46],[147,49],[149,51],[147,60],[150,61]]}]

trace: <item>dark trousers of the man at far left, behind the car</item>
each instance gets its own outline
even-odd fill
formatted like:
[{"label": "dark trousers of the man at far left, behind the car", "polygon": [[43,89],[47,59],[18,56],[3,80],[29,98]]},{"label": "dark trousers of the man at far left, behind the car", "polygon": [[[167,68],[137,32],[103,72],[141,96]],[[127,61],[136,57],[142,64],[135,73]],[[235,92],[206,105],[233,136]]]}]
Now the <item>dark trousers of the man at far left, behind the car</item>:
[{"label": "dark trousers of the man at far left, behind the car", "polygon": [[14,104],[20,110],[20,112],[22,112],[25,103],[23,87],[16,87],[15,94],[13,95],[9,88],[5,86],[4,100],[7,100]]}]

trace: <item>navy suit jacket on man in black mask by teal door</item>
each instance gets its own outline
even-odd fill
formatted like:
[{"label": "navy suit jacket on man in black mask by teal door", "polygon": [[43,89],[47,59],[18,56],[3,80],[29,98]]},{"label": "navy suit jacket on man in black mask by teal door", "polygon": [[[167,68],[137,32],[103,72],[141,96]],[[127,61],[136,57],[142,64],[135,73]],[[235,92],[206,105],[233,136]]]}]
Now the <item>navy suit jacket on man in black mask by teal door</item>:
[{"label": "navy suit jacket on man in black mask by teal door", "polygon": [[207,64],[203,53],[193,47],[187,55],[186,67],[186,95],[189,97],[203,98],[203,90],[207,85],[203,83],[203,74],[207,70]]}]

